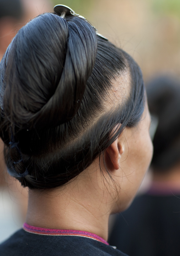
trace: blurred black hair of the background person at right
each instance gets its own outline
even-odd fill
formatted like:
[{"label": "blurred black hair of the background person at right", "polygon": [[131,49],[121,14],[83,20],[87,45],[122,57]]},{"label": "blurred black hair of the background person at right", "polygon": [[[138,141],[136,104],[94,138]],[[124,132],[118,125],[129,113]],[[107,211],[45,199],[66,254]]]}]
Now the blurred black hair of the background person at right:
[{"label": "blurred black hair of the background person at right", "polygon": [[157,122],[153,138],[153,172],[167,172],[180,160],[180,81],[162,75],[147,83],[151,114]]}]

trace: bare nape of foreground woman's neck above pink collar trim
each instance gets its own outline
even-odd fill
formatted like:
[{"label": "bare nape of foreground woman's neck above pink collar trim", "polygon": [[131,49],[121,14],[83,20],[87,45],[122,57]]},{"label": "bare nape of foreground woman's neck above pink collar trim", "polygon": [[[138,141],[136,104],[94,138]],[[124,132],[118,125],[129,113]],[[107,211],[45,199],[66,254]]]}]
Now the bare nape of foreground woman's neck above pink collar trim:
[{"label": "bare nape of foreground woman's neck above pink collar trim", "polygon": [[26,222],[39,228],[87,231],[107,241],[110,210],[104,195],[95,191],[95,186],[83,186],[77,179],[61,190],[30,190]]}]

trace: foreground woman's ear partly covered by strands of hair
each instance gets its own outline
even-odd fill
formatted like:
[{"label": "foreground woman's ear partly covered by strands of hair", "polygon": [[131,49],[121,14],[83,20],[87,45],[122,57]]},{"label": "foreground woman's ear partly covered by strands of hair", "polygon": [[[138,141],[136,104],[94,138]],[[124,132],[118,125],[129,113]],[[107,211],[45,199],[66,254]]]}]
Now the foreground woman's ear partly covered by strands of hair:
[{"label": "foreground woman's ear partly covered by strands of hair", "polygon": [[124,153],[124,141],[121,140],[121,135],[107,148],[105,152],[105,162],[108,169],[113,170],[119,169],[119,161]]}]

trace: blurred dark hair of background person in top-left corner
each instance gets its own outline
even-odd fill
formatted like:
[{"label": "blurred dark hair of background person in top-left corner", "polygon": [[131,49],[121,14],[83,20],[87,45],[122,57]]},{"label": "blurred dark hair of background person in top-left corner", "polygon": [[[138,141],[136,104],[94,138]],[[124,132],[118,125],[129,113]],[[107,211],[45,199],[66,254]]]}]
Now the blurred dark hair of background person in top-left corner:
[{"label": "blurred dark hair of background person in top-left corner", "polygon": [[21,19],[23,16],[22,0],[0,0],[0,19],[6,16]]}]

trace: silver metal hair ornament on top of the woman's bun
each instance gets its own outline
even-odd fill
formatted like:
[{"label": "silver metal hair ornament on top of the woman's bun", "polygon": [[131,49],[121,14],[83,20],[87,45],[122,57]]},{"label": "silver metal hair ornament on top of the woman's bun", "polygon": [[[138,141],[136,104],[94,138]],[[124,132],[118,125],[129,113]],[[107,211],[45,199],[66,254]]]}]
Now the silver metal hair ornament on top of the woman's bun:
[{"label": "silver metal hair ornament on top of the woman's bun", "polygon": [[[85,17],[83,17],[83,16],[81,16],[81,15],[79,15],[79,14],[76,14],[75,13],[75,11],[73,11],[71,8],[69,8],[68,6],[66,6],[66,5],[61,5],[61,4],[58,4],[58,5],[56,5],[55,7],[54,7],[54,12],[57,14],[57,15],[59,15],[61,18],[64,18],[65,16],[77,16],[77,17],[79,17],[79,18],[81,18],[81,19],[84,19],[85,21],[87,21],[86,19],[85,19]],[[87,21],[88,22],[88,21]],[[94,26],[92,26],[92,27],[94,27]],[[99,34],[98,33],[98,31],[97,31],[97,29],[94,27],[94,29],[95,29],[95,31],[96,31],[96,34],[97,34],[97,36],[100,36],[100,37],[102,37],[103,39],[105,39],[105,40],[107,40],[108,41],[108,39],[106,38],[106,37],[104,37],[104,36],[102,36],[101,34]]]}]

